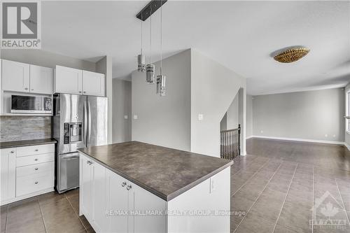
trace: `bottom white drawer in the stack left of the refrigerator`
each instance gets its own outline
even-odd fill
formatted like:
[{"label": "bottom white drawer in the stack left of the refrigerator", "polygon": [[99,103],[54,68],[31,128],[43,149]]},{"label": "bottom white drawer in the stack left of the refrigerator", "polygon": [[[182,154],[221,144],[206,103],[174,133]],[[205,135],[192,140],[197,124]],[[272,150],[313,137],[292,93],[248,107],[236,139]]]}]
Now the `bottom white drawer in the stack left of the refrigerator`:
[{"label": "bottom white drawer in the stack left of the refrigerator", "polygon": [[47,188],[53,188],[52,171],[18,177],[16,181],[16,197],[27,195],[31,192],[45,190]]}]

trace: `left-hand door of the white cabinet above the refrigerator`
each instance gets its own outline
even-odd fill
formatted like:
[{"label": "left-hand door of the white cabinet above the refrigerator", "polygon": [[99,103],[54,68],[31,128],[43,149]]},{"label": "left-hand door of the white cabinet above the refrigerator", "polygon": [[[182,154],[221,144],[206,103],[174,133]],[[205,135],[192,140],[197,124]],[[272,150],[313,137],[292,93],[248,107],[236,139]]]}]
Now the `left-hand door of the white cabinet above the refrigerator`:
[{"label": "left-hand door of the white cabinet above the refrigerator", "polygon": [[64,66],[56,66],[54,92],[83,94],[83,71]]}]

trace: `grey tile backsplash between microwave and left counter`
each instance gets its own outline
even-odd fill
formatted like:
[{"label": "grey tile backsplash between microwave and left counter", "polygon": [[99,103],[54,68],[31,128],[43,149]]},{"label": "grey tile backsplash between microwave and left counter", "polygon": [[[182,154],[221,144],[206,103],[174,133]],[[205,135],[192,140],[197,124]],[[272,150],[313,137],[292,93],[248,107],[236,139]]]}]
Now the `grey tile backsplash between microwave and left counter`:
[{"label": "grey tile backsplash between microwave and left counter", "polygon": [[48,139],[50,116],[0,116],[0,141]]}]

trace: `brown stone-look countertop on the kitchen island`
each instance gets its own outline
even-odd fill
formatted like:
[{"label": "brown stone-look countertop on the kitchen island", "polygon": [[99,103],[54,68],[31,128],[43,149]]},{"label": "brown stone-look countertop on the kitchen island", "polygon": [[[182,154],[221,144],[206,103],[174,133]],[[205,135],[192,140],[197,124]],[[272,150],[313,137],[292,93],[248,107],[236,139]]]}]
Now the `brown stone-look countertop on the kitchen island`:
[{"label": "brown stone-look countertop on the kitchen island", "polygon": [[165,201],[233,164],[231,160],[138,141],[78,150]]}]

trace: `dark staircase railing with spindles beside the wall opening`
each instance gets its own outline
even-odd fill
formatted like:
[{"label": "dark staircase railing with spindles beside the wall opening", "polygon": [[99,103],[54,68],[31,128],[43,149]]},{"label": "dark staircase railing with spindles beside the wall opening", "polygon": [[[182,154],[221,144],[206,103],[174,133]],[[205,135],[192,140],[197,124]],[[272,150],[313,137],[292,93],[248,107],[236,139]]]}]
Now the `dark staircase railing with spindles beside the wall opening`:
[{"label": "dark staircase railing with spindles beside the wall opening", "polygon": [[220,132],[220,155],[223,159],[233,160],[241,154],[240,150],[241,125],[237,129]]}]

